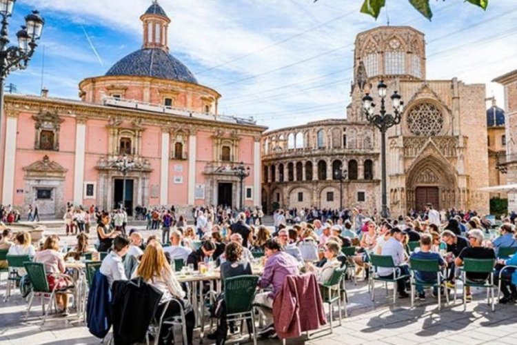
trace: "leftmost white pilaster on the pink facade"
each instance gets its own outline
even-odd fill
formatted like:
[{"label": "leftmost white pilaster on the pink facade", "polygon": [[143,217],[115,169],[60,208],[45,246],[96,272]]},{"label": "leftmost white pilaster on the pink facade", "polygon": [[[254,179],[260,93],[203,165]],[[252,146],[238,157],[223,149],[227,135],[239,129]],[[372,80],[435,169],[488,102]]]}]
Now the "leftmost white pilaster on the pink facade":
[{"label": "leftmost white pilaster on the pink facade", "polygon": [[6,114],[6,151],[3,156],[3,189],[2,204],[12,205],[14,199],[14,166],[16,161],[16,132],[18,127],[18,112]]}]

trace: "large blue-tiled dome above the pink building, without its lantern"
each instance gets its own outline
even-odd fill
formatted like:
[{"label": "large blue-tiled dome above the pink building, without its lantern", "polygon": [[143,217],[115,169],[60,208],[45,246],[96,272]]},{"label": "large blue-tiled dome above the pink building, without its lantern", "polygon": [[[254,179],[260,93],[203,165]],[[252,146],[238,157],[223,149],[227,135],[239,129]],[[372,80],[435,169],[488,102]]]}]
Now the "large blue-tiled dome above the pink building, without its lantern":
[{"label": "large blue-tiled dome above the pink building, without its lantern", "polygon": [[134,75],[197,83],[196,77],[181,61],[159,48],[136,50],[117,61],[105,75]]}]

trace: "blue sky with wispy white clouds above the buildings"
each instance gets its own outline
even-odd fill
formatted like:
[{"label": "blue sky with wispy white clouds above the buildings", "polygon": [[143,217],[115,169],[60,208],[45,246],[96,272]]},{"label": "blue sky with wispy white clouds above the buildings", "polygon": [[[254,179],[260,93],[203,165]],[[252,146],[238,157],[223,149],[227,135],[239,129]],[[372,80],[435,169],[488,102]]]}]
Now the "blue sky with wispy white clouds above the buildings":
[{"label": "blue sky with wispy white clouds above the buildings", "polygon": [[[28,70],[7,83],[52,97],[78,98],[78,83],[103,75],[116,61],[141,48],[140,15],[151,0],[18,0],[10,20],[12,41],[32,9],[45,28]],[[200,83],[222,95],[220,112],[281,128],[345,117],[358,32],[409,25],[425,33],[427,78],[486,83],[487,96],[504,106],[491,79],[516,68],[515,0],[490,1],[486,12],[458,0],[431,1],[427,21],[407,1],[387,0],[377,21],[359,13],[362,0],[159,0],[172,19],[172,55]],[[89,35],[92,45],[88,42]],[[100,59],[95,54],[96,50]]]}]

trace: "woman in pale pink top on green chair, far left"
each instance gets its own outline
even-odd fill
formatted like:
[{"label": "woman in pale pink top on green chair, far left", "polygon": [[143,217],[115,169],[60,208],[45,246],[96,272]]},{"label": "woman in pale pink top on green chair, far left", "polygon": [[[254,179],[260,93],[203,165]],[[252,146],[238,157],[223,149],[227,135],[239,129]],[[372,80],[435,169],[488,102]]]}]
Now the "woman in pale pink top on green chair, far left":
[{"label": "woman in pale pink top on green chair, far left", "polygon": [[[59,275],[56,273],[65,273],[65,260],[63,255],[59,253],[59,236],[51,235],[45,239],[43,250],[36,253],[34,262],[41,262],[45,265],[47,273],[48,287],[50,290],[63,291],[72,286],[72,277]],[[59,313],[63,316],[68,315],[68,296],[66,293],[56,293],[56,302]]]}]

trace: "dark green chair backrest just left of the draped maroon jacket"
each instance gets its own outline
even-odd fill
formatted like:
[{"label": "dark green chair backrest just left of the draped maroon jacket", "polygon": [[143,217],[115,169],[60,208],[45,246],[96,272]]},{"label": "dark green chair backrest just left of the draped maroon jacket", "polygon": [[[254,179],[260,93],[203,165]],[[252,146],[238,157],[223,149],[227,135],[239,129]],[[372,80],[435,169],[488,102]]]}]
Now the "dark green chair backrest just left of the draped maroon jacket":
[{"label": "dark green chair backrest just left of the draped maroon jacket", "polygon": [[256,275],[240,275],[225,279],[224,299],[227,314],[252,310],[257,282],[259,277]]}]

